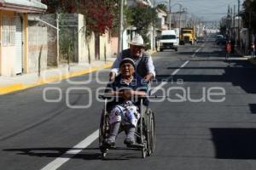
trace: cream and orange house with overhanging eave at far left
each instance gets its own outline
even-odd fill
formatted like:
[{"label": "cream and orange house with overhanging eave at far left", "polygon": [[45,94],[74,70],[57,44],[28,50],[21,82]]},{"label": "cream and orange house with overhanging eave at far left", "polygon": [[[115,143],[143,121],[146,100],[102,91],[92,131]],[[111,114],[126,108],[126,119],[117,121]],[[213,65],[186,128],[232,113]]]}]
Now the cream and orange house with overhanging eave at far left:
[{"label": "cream and orange house with overhanging eave at far left", "polygon": [[40,0],[0,0],[0,76],[28,72],[28,14],[46,9]]}]

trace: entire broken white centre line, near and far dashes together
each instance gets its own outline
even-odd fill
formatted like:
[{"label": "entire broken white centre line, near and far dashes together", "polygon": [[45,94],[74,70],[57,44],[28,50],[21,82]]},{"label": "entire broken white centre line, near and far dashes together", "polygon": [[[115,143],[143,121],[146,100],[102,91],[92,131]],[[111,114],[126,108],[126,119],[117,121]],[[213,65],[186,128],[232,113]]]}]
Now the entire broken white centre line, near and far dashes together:
[{"label": "entire broken white centre line, near and far dashes together", "polygon": [[[195,53],[198,53],[199,50],[200,48],[197,49]],[[183,65],[181,65],[177,70],[172,72],[172,76],[176,75],[177,72],[180,71],[184,66],[188,65],[188,63],[189,63],[189,60],[184,62]],[[157,90],[165,86],[166,83],[167,82],[161,82],[160,85],[158,85],[152,90],[151,94],[154,94]],[[47,164],[41,170],[55,170],[61,167],[61,165],[69,161],[73,156],[79,154],[79,152],[81,152],[84,148],[88,147],[91,143],[93,143],[98,138],[98,136],[99,136],[99,129],[97,129],[94,133],[91,133],[90,136],[85,138],[79,144],[76,144],[75,146],[73,146],[72,149],[67,150],[67,152],[65,152],[63,155],[61,155],[60,157],[57,157],[54,161],[49,162],[49,164]]]}]

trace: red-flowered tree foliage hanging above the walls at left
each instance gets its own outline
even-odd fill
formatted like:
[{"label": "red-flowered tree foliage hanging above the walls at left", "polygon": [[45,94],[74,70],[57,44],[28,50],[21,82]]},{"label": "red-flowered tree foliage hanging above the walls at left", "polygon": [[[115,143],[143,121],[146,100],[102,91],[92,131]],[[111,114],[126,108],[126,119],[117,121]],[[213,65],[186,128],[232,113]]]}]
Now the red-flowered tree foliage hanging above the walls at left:
[{"label": "red-flowered tree foliage hanging above the walls at left", "polygon": [[86,31],[104,34],[118,26],[118,0],[42,0],[48,6],[47,13],[84,14]]}]

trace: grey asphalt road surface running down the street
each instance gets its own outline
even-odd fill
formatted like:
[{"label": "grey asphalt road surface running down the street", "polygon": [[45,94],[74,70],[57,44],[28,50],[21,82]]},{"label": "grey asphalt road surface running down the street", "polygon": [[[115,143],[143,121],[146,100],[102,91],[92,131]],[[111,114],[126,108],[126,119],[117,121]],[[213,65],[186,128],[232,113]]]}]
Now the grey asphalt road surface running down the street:
[{"label": "grey asphalt road surface running down the street", "polygon": [[[64,80],[0,96],[0,169],[49,169],[54,164],[61,170],[254,170],[256,67],[238,56],[225,62],[222,47],[211,39],[153,58],[158,74],[154,94],[169,98],[150,103],[156,122],[152,156],[142,159],[139,151],[127,150],[121,134],[120,149],[101,160],[97,139],[91,136],[103,106],[96,101],[96,90],[104,84],[96,77],[106,82],[105,70],[72,78],[73,83]],[[86,85],[74,84],[84,80],[89,80]],[[67,106],[90,101],[87,109]]]}]

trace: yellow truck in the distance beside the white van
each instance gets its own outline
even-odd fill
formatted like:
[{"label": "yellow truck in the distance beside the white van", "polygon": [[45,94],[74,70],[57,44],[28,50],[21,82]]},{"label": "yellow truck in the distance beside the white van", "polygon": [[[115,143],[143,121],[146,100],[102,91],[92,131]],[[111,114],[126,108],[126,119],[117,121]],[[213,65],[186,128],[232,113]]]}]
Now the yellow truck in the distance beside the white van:
[{"label": "yellow truck in the distance beside the white van", "polygon": [[179,42],[181,45],[184,45],[185,43],[190,43],[191,45],[193,45],[195,42],[194,28],[192,27],[181,28]]}]

